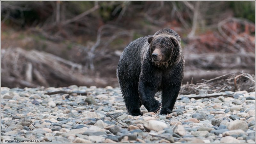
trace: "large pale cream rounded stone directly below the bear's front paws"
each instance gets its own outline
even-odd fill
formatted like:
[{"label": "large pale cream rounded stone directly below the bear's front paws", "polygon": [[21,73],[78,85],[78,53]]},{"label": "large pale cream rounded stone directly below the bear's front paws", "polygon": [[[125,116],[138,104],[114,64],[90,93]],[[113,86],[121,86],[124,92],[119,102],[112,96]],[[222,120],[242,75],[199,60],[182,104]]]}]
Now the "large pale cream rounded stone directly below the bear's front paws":
[{"label": "large pale cream rounded stone directly below the bear's front paws", "polygon": [[[180,126],[180,125],[178,125]],[[154,130],[156,132],[162,131],[164,128],[168,127],[164,122],[157,120],[149,120],[144,123],[144,128],[149,132]]]}]

